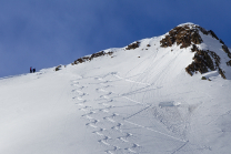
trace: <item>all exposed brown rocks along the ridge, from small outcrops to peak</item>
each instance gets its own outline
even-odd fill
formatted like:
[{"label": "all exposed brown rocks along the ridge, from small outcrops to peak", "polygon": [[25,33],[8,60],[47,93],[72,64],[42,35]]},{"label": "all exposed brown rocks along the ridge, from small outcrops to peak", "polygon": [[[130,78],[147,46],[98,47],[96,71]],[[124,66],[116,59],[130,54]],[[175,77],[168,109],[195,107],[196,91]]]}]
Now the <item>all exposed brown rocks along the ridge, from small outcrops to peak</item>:
[{"label": "all exposed brown rocks along the ridge, from small outcrops to peak", "polygon": [[[205,30],[204,28],[201,28],[193,23],[180,24],[170,30],[167,34],[161,37],[162,39],[160,40],[160,47],[169,48],[173,44],[177,44],[180,47],[180,49],[191,48],[191,52],[194,53],[194,57],[192,58],[193,61],[185,68],[185,72],[188,72],[191,76],[198,72],[203,74],[210,71],[218,71],[223,79],[227,79],[225,71],[221,68],[221,58],[214,51],[202,50],[199,48],[200,44],[203,43],[201,34],[210,35],[220,42],[221,49],[227,53],[229,59],[225,62],[225,64],[228,66],[231,66],[231,52],[229,48],[224,44],[224,42],[221,39],[219,39],[212,30]],[[141,42],[135,41],[123,48],[123,50],[134,50],[140,48],[140,45]],[[150,44],[148,44],[147,47],[150,47]],[[173,52],[173,50],[171,51]],[[100,51],[88,57],[79,58],[71,64],[74,65],[87,61],[91,61],[99,57],[112,54],[113,51],[111,50],[109,50],[109,52]],[[60,68],[61,66],[59,65],[54,70],[59,71]]]}]

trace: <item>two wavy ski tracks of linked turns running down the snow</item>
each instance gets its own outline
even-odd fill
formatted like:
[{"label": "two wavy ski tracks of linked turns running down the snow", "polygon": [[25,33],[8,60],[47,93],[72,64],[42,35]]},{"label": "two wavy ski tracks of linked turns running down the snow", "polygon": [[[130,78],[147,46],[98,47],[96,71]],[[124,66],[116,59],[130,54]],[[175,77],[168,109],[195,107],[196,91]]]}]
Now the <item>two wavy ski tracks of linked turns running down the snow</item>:
[{"label": "two wavy ski tracks of linked turns running down the snow", "polygon": [[[103,81],[102,78],[94,78],[94,80],[100,81],[100,83]],[[79,82],[74,81],[72,84],[74,88],[79,88],[72,90],[72,92],[77,94],[76,95],[77,99],[76,97],[74,99],[79,102],[77,103],[78,105],[80,105],[79,110],[84,112],[84,114],[82,114],[82,117],[88,121],[86,123],[86,126],[92,127],[93,129],[92,134],[96,134],[99,137],[98,143],[104,145],[106,148],[108,148],[104,152],[106,153],[117,153],[117,152],[138,153],[135,150],[138,147],[139,147],[138,150],[140,150],[141,146],[137,143],[130,143],[129,141],[129,138],[133,136],[132,133],[122,131],[123,117],[120,116],[118,113],[113,113],[110,111],[111,109],[113,109],[113,105],[111,104],[113,103],[113,99],[110,97],[110,95],[112,95],[113,92],[106,90],[107,88],[110,88],[110,85],[98,84],[100,85],[100,88],[96,89],[96,92],[98,93],[97,100],[102,99],[107,101],[104,101],[104,103],[102,102],[98,103],[100,109],[94,109],[93,106],[89,105],[90,103],[88,103],[87,100],[84,100],[84,97],[87,96],[87,94],[84,93],[86,86],[80,85],[79,83],[80,81]],[[103,81],[103,83],[109,83],[109,81]],[[135,102],[134,100],[128,99],[125,96],[122,97]],[[102,114],[101,119],[97,117],[97,114]],[[120,116],[120,120],[119,119],[116,120],[116,117],[118,116]],[[107,126],[110,125],[110,126],[108,126],[109,129],[103,129],[101,127],[101,125],[107,125]],[[108,134],[113,134],[114,131],[117,132],[116,136],[111,137],[108,135]],[[120,142],[119,144],[118,141]],[[123,145],[124,146],[123,148],[119,147],[121,146],[121,144],[125,144]]]}]

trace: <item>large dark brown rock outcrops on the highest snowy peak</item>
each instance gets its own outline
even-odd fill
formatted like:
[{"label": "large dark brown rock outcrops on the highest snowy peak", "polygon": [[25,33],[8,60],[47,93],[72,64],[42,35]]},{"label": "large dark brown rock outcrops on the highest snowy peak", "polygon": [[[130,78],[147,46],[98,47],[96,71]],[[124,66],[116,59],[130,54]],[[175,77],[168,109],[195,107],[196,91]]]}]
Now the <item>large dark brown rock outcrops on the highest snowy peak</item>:
[{"label": "large dark brown rock outcrops on the highest snowy peak", "polygon": [[[220,66],[220,57],[210,50],[199,50],[197,44],[203,42],[200,32],[205,35],[211,35],[212,38],[219,40],[215,33],[212,30],[205,30],[193,23],[184,23],[175,27],[170,30],[164,38],[160,41],[162,48],[172,47],[174,43],[180,45],[180,49],[191,47],[191,51],[194,52],[193,61],[185,68],[185,71],[193,75],[193,73],[200,72],[201,74],[209,71],[218,71],[223,79],[225,79],[225,72]],[[228,54],[228,58],[231,59],[231,52],[222,40],[219,40],[221,43],[221,49]],[[231,60],[227,62],[228,66],[231,66]]]}]

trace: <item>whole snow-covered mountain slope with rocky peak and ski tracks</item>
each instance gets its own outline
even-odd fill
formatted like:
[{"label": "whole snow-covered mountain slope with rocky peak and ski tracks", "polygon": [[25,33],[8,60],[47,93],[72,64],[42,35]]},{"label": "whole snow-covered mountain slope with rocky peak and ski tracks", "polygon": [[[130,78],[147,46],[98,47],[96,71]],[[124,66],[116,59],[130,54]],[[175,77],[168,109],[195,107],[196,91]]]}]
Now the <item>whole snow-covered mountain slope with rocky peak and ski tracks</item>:
[{"label": "whole snow-covered mountain slope with rocky peak and ski tracks", "polygon": [[230,153],[230,55],[213,31],[184,23],[1,79],[0,153]]}]

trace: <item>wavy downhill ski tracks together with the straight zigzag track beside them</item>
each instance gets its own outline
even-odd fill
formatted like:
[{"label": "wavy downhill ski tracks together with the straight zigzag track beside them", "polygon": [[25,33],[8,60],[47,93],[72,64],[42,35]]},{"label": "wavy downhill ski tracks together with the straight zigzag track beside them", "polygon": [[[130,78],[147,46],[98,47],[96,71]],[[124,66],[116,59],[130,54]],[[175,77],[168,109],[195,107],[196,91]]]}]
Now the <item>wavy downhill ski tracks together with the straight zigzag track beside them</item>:
[{"label": "wavy downhill ski tracks together with the straight zigzag track beside them", "polygon": [[[142,82],[123,79],[113,73],[111,73],[111,76],[116,76],[119,80],[123,80],[132,84],[142,84],[142,85],[148,85],[148,86],[151,85],[149,83],[142,83]],[[88,121],[86,123],[86,126],[89,129],[93,129],[92,134],[94,134],[99,138],[98,143],[101,144],[106,148],[104,151],[106,153],[114,153],[114,154],[117,153],[143,153],[145,151],[140,144],[132,142],[133,141],[132,137],[135,138],[139,136],[135,136],[131,132],[123,130],[124,125],[128,127],[127,124],[139,127],[143,131],[151,131],[160,135],[167,136],[169,138],[182,142],[183,144],[182,147],[188,143],[188,141],[178,138],[175,136],[171,136],[169,134],[162,133],[154,129],[130,122],[129,119],[139,115],[140,113],[150,109],[152,105],[139,102],[137,100],[130,99],[121,94],[117,94],[111,91],[108,91],[107,88],[111,86],[109,84],[111,81],[104,81],[103,78],[99,78],[99,76],[93,78],[93,80],[94,82],[97,81],[97,83],[99,83],[99,84],[92,84],[92,85],[97,85],[94,93],[97,93],[98,97],[96,97],[94,101],[99,102],[97,103],[98,107],[91,105],[90,102],[84,100],[88,97],[88,94],[84,93],[84,89],[88,86],[80,85],[81,80],[78,80],[79,82],[76,81],[72,84],[74,88],[78,88],[78,89],[73,89],[72,92],[76,94],[77,99],[76,97],[74,99],[79,102],[77,103],[80,106],[79,110],[84,112],[84,114],[82,114],[82,117]],[[114,113],[111,111],[114,107],[113,102],[117,100],[117,97],[123,97],[124,100],[129,102],[141,105],[141,107],[138,112],[131,115],[121,116],[119,113]],[[179,150],[182,147],[179,147]],[[179,150],[174,151],[173,153],[177,153]]]}]

